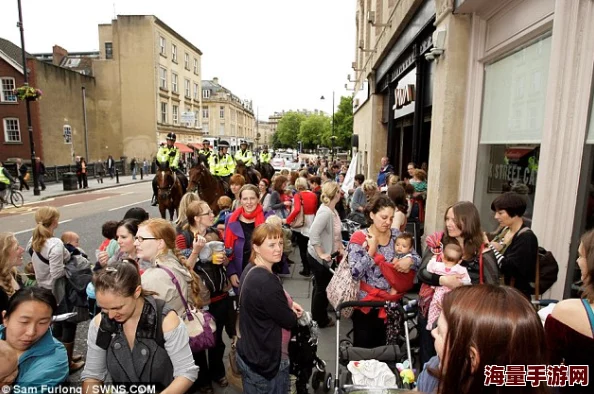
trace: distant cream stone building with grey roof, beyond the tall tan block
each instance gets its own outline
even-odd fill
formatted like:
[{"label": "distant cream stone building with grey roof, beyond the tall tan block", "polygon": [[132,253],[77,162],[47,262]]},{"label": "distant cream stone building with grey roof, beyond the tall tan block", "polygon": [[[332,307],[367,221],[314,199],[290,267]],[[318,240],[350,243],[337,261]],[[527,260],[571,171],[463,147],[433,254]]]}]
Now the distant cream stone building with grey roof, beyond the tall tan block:
[{"label": "distant cream stone building with grey roof, beyond the tall tan block", "polygon": [[227,141],[232,154],[239,149],[241,140],[254,148],[256,119],[252,102],[234,95],[218,78],[202,81],[201,115],[203,133]]}]

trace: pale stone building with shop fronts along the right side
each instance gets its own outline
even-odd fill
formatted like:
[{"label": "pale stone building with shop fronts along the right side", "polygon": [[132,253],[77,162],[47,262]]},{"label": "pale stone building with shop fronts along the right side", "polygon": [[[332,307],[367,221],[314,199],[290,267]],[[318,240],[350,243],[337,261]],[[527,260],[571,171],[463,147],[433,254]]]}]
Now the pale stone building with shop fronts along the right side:
[{"label": "pale stone building with shop fronts along the right side", "polygon": [[[354,130],[362,170],[382,156],[406,175],[428,162],[425,233],[446,208],[527,195],[526,217],[559,263],[551,298],[579,279],[579,236],[594,227],[594,2],[359,0]],[[576,198],[577,197],[577,198]],[[555,207],[551,210],[551,207]]]}]

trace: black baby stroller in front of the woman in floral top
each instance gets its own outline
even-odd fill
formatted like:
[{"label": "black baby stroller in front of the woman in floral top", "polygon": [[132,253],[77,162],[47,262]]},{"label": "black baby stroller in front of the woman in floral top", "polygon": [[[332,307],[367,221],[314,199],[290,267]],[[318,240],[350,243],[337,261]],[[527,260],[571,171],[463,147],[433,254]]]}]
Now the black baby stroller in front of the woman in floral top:
[{"label": "black baby stroller in front of the woman in floral top", "polygon": [[[348,301],[343,302],[336,308],[336,379],[334,381],[334,393],[397,393],[401,389],[412,389],[413,384],[409,382],[410,373],[401,373],[396,370],[396,365],[405,363],[410,370],[413,370],[415,363],[413,360],[413,351],[411,349],[411,325],[414,327],[414,318],[416,316],[417,300],[410,301],[400,300],[399,302],[378,302],[378,301]],[[401,332],[403,337],[397,335],[395,343],[380,346],[373,349],[356,348],[352,346],[349,340],[340,340],[340,318],[341,310],[348,307],[372,307],[372,308],[387,308],[388,311],[395,311],[400,316],[397,320],[401,324]],[[390,313],[388,313],[390,315]],[[388,364],[392,372],[395,372],[396,385],[393,387],[372,387],[372,386],[357,386],[352,384],[350,372],[345,368],[350,361],[361,360],[378,360]],[[406,364],[408,363],[408,364]],[[408,375],[407,375],[408,374]],[[414,378],[414,376],[413,376]]]}]

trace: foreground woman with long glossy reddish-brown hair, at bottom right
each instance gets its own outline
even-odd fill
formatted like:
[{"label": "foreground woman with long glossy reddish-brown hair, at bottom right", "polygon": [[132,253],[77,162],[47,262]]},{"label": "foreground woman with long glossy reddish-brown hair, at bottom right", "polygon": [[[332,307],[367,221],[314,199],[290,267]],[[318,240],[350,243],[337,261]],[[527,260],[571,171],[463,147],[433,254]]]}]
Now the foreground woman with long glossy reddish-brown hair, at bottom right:
[{"label": "foreground woman with long glossy reddish-brown hair, at bottom right", "polygon": [[[441,360],[438,394],[549,392],[546,374],[536,387],[530,380],[531,367],[548,363],[544,330],[534,307],[515,289],[482,285],[453,290],[443,299],[432,335]],[[495,385],[489,369],[511,365],[528,370],[519,375],[524,387]]]}]

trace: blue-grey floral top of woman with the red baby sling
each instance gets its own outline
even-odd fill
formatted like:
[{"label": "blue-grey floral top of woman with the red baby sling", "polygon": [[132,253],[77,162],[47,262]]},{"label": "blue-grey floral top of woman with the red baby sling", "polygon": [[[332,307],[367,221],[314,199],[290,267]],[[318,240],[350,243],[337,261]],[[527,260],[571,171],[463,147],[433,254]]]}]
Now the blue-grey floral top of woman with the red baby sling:
[{"label": "blue-grey floral top of woman with the red baby sling", "polygon": [[[392,236],[390,237],[390,241],[386,245],[378,245],[376,252],[376,255],[381,254],[388,262],[392,261],[395,257],[394,242],[396,241],[396,237],[400,234],[400,230],[396,228],[391,229],[391,231]],[[366,235],[368,234],[368,230],[363,230],[363,232]],[[361,280],[380,290],[390,290],[390,284],[382,275],[379,266],[375,264],[373,258],[367,253],[367,243],[358,245],[350,242],[347,247],[347,253],[353,279]],[[421,264],[421,257],[416,251],[413,251],[412,259],[414,264],[411,269],[416,271]],[[367,296],[367,292],[359,290],[359,299],[362,299],[365,296]]]}]

